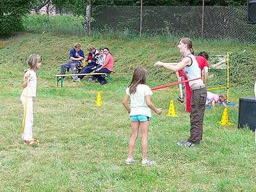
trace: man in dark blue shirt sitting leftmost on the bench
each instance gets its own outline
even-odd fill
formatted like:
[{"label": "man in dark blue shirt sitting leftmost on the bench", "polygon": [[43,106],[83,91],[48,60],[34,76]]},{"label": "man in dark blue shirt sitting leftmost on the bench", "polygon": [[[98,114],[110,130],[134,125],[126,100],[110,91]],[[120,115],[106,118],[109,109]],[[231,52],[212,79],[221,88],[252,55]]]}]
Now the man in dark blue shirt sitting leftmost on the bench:
[{"label": "man in dark blue shirt sitting leftmost on the bench", "polygon": [[[61,75],[65,74],[66,70],[71,68],[72,74],[76,74],[77,67],[83,66],[84,51],[81,49],[80,43],[75,44],[75,48],[69,52],[69,58],[71,61],[67,61],[61,65]],[[72,76],[73,81],[79,81],[77,76]]]}]

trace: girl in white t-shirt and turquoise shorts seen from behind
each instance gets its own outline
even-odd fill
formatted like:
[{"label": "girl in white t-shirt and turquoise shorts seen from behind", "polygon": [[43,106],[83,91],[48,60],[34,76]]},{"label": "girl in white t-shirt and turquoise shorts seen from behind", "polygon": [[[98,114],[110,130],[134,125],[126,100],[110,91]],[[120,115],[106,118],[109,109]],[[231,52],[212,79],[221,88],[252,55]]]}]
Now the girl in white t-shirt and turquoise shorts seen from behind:
[{"label": "girl in white t-shirt and turquoise shorts seen from behind", "polygon": [[[138,138],[139,127],[141,129],[141,152],[143,166],[148,164],[156,164],[155,161],[147,159],[147,146],[148,146],[148,128],[151,117],[151,110],[155,111],[158,115],[163,113],[162,109],[156,108],[150,100],[153,94],[152,90],[145,83],[147,81],[147,70],[140,66],[136,67],[133,72],[132,81],[129,87],[125,90],[126,95],[123,99],[123,105],[131,116],[132,134],[129,140],[129,152],[125,163],[134,163],[133,149],[135,142]],[[129,98],[131,99],[131,107],[128,104]]]}]

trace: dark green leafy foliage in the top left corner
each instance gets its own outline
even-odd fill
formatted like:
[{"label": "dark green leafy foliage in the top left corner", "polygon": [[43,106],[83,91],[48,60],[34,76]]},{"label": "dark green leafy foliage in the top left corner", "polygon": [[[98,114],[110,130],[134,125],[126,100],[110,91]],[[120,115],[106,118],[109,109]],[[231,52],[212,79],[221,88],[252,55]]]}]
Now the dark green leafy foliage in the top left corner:
[{"label": "dark green leafy foliage in the top left corner", "polygon": [[31,10],[36,0],[1,0],[0,1],[0,35],[22,30],[22,15]]}]

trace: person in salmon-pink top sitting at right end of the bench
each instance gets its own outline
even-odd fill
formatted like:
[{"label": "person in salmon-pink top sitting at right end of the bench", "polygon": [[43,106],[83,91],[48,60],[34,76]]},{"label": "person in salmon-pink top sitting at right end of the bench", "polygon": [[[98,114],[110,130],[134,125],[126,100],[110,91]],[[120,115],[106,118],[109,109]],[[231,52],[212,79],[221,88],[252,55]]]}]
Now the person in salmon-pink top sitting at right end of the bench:
[{"label": "person in salmon-pink top sitting at right end of the bench", "polygon": [[[114,65],[114,60],[113,60],[113,56],[112,54],[109,52],[108,47],[105,47],[103,49],[104,54],[106,55],[104,64],[97,68],[95,70],[95,73],[106,73],[106,74],[110,74],[113,71],[113,65]],[[102,76],[102,75],[95,75],[98,79],[98,82],[103,85],[108,83],[108,81],[106,81],[106,79]]]}]

